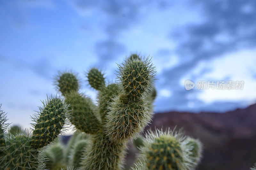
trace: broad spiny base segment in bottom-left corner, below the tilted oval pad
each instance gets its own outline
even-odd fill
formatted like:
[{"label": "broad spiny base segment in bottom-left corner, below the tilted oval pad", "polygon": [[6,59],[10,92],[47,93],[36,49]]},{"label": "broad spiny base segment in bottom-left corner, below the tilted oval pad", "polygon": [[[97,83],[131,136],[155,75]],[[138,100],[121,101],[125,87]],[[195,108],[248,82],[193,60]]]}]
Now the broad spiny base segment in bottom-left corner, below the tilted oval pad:
[{"label": "broad spiny base segment in bottom-left corner, below the tilted oval pad", "polygon": [[6,147],[0,154],[3,156],[0,169],[36,170],[39,166],[38,151],[30,144],[26,136],[7,139]]}]

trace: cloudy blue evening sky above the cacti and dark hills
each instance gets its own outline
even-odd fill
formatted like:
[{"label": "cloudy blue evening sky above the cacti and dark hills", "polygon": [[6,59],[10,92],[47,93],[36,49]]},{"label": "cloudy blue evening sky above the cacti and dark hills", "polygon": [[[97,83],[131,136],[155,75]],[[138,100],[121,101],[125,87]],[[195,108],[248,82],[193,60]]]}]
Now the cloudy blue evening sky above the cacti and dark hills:
[{"label": "cloudy blue evening sky above the cacti and dark hills", "polygon": [[[53,78],[65,70],[95,101],[84,71],[99,67],[114,82],[131,53],[156,66],[155,112],[245,108],[256,102],[255,47],[255,0],[0,0],[1,109],[28,128],[40,100],[60,95]],[[219,90],[198,81],[244,83]]]}]

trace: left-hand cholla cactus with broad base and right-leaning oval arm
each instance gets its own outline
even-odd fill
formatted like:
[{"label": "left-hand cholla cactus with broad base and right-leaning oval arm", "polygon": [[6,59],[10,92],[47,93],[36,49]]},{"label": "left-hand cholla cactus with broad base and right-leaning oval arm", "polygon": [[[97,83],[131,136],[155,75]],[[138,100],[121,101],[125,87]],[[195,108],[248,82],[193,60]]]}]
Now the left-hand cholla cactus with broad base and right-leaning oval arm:
[{"label": "left-hand cholla cactus with broad base and right-leaning oval arm", "polygon": [[59,97],[50,97],[39,107],[39,112],[32,117],[34,120],[32,134],[29,132],[16,135],[3,135],[6,116],[0,111],[1,152],[0,169],[42,169],[42,148],[52,142],[65,130],[67,107]]}]

